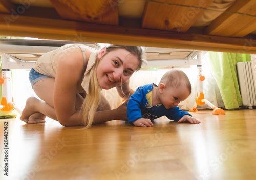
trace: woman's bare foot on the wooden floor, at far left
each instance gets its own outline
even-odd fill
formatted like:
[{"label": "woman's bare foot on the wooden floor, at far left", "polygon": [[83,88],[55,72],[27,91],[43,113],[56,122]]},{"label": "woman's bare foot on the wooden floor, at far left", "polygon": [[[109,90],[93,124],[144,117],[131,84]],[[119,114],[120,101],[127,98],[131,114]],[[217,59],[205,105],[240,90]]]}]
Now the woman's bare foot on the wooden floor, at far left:
[{"label": "woman's bare foot on the wooden floor, at far left", "polygon": [[20,116],[20,120],[30,124],[44,123],[46,116],[44,114],[37,112],[34,109],[37,103],[40,103],[40,100],[38,100],[37,98],[35,97],[28,98],[26,102],[26,106],[22,111],[22,115]]}]

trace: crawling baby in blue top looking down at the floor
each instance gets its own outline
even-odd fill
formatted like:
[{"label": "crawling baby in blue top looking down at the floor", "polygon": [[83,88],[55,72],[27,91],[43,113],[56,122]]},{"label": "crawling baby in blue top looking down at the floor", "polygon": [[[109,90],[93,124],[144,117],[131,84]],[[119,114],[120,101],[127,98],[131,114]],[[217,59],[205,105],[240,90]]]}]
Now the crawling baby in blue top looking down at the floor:
[{"label": "crawling baby in blue top looking down at the floor", "polygon": [[140,127],[153,126],[152,120],[161,116],[178,121],[198,124],[187,111],[178,104],[191,93],[191,84],[187,75],[178,69],[166,72],[159,85],[147,84],[139,87],[129,98],[127,104],[128,122]]}]

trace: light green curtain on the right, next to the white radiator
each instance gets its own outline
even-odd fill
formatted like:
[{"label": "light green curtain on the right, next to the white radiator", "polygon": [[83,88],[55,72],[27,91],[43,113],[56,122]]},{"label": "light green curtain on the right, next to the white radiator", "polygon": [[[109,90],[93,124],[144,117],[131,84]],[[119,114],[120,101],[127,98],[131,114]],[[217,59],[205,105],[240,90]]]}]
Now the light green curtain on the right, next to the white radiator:
[{"label": "light green curtain on the right, next to the white radiator", "polygon": [[251,61],[250,54],[209,52],[209,64],[212,75],[220,89],[226,109],[235,109],[242,105],[239,91],[237,63]]}]

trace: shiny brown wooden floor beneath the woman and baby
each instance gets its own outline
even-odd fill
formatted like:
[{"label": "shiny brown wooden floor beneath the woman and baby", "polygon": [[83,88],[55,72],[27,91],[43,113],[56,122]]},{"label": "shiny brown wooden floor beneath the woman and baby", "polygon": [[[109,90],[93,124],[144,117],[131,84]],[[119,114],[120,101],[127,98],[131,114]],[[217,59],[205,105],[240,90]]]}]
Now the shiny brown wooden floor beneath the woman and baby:
[{"label": "shiny brown wooden floor beneath the woman and baby", "polygon": [[161,118],[148,128],[111,121],[87,130],[50,119],[42,124],[1,119],[0,177],[256,179],[256,110],[226,110],[226,115],[204,110],[193,116],[201,124]]}]

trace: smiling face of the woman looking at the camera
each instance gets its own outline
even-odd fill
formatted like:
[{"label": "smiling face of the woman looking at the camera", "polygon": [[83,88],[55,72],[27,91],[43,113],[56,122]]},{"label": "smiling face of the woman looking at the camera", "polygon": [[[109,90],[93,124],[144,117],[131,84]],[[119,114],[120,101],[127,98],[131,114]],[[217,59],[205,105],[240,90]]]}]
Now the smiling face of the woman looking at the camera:
[{"label": "smiling face of the woman looking at the camera", "polygon": [[102,89],[111,89],[125,83],[139,65],[138,58],[125,49],[116,49],[107,53],[104,47],[100,50],[98,58],[100,62],[97,78]]}]

